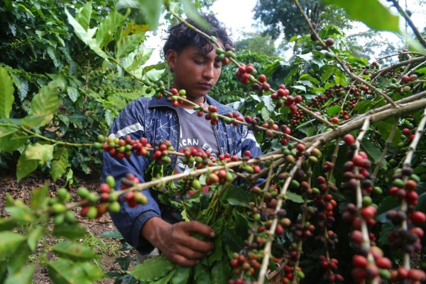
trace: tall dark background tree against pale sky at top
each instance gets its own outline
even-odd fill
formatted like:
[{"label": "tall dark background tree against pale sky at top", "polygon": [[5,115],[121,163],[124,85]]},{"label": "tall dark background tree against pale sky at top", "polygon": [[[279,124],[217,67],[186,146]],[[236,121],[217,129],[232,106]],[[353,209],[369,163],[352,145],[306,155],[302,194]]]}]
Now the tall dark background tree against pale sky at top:
[{"label": "tall dark background tree against pale sky at top", "polygon": [[[324,4],[321,0],[300,0],[300,4],[318,28],[326,23],[341,28],[350,27],[343,9]],[[253,11],[254,18],[266,26],[264,33],[272,38],[278,38],[283,33],[285,40],[290,40],[293,35],[310,33],[293,0],[258,0]]]}]

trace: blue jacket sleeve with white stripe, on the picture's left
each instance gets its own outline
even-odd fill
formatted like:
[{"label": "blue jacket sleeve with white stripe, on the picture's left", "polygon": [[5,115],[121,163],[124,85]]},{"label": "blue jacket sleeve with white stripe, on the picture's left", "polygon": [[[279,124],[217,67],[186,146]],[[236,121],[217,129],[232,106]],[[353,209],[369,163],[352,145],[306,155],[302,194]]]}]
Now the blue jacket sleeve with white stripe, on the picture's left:
[{"label": "blue jacket sleeve with white stripe, on the picture's left", "polygon": [[[143,108],[137,102],[129,104],[114,121],[111,126],[109,136],[124,138],[127,134],[132,139],[139,139],[145,136],[145,125],[143,121]],[[132,153],[130,158],[111,157],[107,151],[103,155],[102,181],[108,175],[112,175],[116,180],[116,190],[120,190],[121,178],[127,173],[133,173],[141,181],[145,181],[145,170],[148,168],[149,160]],[[143,194],[148,198],[146,204],[138,204],[136,207],[129,207],[127,202],[120,200],[121,209],[118,213],[110,213],[117,229],[119,229],[124,240],[134,246],[143,254],[150,253],[154,247],[141,236],[143,225],[152,217],[160,217],[158,203],[153,199],[150,190],[143,190]]]}]

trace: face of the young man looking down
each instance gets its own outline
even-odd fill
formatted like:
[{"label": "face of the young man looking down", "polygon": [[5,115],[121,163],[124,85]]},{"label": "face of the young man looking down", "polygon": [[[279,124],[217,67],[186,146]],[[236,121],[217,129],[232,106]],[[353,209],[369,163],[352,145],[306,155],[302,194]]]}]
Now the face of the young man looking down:
[{"label": "face of the young man looking down", "polygon": [[216,84],[221,73],[222,62],[214,61],[216,47],[205,54],[196,46],[187,46],[180,53],[168,51],[168,63],[175,70],[173,87],[185,89],[187,99],[196,104],[204,101],[204,96]]}]

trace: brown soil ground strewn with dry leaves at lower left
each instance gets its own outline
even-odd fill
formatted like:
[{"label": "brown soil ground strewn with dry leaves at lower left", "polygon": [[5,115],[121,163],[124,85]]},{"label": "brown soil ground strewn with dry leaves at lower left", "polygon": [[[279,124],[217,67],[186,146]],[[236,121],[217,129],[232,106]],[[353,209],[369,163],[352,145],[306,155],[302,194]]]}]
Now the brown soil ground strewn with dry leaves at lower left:
[{"label": "brown soil ground strewn with dry leaves at lower left", "polygon": [[[17,182],[16,177],[13,175],[0,175],[0,217],[6,217],[7,213],[4,209],[4,202],[6,194],[9,194],[13,197],[14,200],[20,199],[23,200],[26,204],[29,203],[31,198],[31,192],[33,189],[38,187],[43,187],[43,185],[48,184],[50,196],[55,197],[55,192],[58,188],[64,185],[63,180],[58,180],[57,182],[53,182],[53,180],[49,178],[38,178],[33,175],[27,178],[24,178],[20,182]],[[70,193],[72,195],[73,200],[77,200],[76,197],[76,189],[77,187],[84,186],[89,190],[96,190],[99,186],[99,179],[89,179],[84,178],[79,180],[78,185],[76,187],[70,187]],[[89,232],[86,236],[83,236],[80,239],[81,242],[85,244],[90,244],[94,251],[99,256],[99,267],[102,268],[104,273],[109,271],[114,271],[119,268],[117,263],[114,263],[115,259],[122,256],[134,256],[135,251],[120,251],[121,244],[118,239],[111,239],[102,236],[102,233],[106,231],[116,231],[116,227],[114,226],[109,214],[104,214],[99,219],[88,220],[80,217],[79,215],[80,209],[75,210],[75,215],[79,222],[87,228]],[[57,240],[49,236],[46,242],[48,244],[55,244]],[[55,255],[50,251],[41,251],[41,249],[36,250],[33,255],[31,255],[31,261],[36,261],[40,258],[40,256],[45,256],[48,260],[55,259]],[[47,268],[44,266],[38,266],[36,268],[35,273],[33,275],[33,283],[34,284],[50,284],[53,283],[52,280],[48,277]],[[112,278],[103,278],[99,280],[97,283],[100,284],[112,284],[114,283],[114,279]]]}]

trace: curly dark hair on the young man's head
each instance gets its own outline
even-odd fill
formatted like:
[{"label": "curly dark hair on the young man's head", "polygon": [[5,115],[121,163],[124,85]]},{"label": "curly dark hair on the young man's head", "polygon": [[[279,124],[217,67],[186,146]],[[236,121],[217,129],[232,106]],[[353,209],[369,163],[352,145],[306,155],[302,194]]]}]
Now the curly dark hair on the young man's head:
[{"label": "curly dark hair on the young man's head", "polygon": [[[197,27],[200,31],[213,35],[217,39],[220,39],[225,48],[234,47],[234,42],[229,38],[226,28],[222,22],[220,22],[214,14],[209,13],[203,15],[204,20],[210,25],[210,30],[200,28],[194,21],[187,19],[187,22],[192,26]],[[175,50],[180,53],[187,46],[194,45],[203,50],[206,54],[213,50],[214,46],[212,41],[207,39],[204,35],[197,33],[192,28],[187,27],[184,23],[178,23],[170,27],[168,30],[168,38],[166,38],[163,46],[163,55],[166,56],[168,50]],[[166,58],[167,59],[167,58]]]}]

